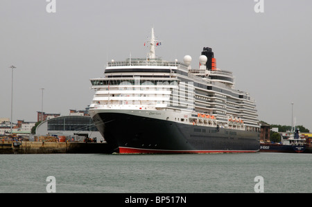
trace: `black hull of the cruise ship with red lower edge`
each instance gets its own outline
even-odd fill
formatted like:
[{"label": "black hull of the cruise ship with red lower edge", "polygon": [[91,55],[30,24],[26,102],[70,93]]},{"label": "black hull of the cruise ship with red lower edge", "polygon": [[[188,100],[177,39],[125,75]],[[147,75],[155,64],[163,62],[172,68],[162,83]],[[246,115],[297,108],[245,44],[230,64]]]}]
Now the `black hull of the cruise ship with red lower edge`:
[{"label": "black hull of the cruise ship with red lower edge", "polygon": [[205,127],[120,113],[93,116],[99,132],[119,153],[258,152],[259,132]]}]

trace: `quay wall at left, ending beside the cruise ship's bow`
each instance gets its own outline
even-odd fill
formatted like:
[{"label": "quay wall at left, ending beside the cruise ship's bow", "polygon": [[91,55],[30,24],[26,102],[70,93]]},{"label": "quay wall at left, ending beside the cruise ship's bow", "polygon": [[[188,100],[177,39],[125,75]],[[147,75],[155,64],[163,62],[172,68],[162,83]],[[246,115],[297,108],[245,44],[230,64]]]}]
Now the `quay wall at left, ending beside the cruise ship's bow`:
[{"label": "quay wall at left, ending beside the cruise ship's bow", "polygon": [[84,142],[0,142],[0,154],[112,154],[107,143]]}]

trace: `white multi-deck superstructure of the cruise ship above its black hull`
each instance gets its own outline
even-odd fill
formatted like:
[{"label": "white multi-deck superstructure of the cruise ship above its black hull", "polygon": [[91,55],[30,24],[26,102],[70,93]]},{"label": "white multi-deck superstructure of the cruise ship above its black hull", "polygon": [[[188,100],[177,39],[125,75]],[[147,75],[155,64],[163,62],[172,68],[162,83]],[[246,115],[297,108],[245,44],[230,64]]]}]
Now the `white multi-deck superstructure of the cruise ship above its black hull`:
[{"label": "white multi-deck superstructure of the cruise ship above its black hull", "polygon": [[146,58],[112,60],[103,78],[91,79],[95,90],[91,115],[123,110],[187,125],[259,131],[255,102],[248,93],[234,89],[232,72],[216,69],[214,58],[212,69],[207,69],[205,55],[199,57],[199,69],[191,69],[189,55],[184,62],[161,60],[155,56],[157,44],[152,29]]}]

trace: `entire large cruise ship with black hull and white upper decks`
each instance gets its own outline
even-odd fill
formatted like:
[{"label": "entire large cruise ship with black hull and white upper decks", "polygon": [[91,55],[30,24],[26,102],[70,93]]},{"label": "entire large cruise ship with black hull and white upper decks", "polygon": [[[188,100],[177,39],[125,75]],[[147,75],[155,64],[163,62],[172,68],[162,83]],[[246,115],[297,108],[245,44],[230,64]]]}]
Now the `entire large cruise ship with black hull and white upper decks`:
[{"label": "entire large cruise ship with black hull and white upper decks", "polygon": [[216,67],[211,48],[192,69],[190,55],[183,62],[155,55],[161,42],[153,28],[146,44],[145,58],[112,60],[103,78],[90,79],[89,114],[114,152],[259,152],[255,101],[235,89],[232,72]]}]

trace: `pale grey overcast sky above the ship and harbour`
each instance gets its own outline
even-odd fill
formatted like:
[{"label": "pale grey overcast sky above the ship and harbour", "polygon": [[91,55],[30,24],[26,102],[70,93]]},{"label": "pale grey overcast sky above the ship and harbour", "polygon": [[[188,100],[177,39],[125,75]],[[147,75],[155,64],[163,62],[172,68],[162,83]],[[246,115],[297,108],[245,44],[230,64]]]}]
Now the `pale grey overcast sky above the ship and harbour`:
[{"label": "pale grey overcast sky above the ship and harbour", "polygon": [[92,101],[90,78],[107,60],[146,57],[150,29],[162,40],[156,55],[198,66],[202,48],[219,69],[232,71],[236,89],[256,100],[259,120],[312,131],[312,1],[264,0],[0,1],[0,118],[37,121],[37,111],[69,115]]}]

